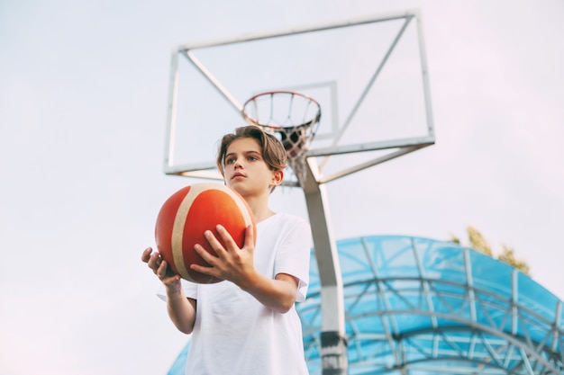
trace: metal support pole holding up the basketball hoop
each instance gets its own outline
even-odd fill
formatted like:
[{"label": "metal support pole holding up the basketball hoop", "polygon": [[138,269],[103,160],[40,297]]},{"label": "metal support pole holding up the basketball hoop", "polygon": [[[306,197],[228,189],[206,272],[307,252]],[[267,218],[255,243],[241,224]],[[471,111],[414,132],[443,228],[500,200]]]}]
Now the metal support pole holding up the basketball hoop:
[{"label": "metal support pole holding up the basketball hoop", "polygon": [[324,186],[315,175],[318,167],[312,158],[305,163],[305,176],[301,184],[314,237],[315,257],[321,281],[322,333],[321,359],[323,375],[346,375],[347,338],[345,336],[345,313],[341,267],[337,245],[332,236],[329,210]]}]

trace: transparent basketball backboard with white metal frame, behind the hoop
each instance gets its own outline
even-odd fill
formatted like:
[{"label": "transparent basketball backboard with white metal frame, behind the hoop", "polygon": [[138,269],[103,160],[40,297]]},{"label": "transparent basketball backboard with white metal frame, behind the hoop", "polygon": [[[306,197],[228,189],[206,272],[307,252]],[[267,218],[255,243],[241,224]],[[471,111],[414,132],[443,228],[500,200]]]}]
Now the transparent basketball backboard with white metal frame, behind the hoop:
[{"label": "transparent basketball backboard with white metal frame, behind the hoop", "polygon": [[243,103],[275,90],[321,104],[307,153],[318,183],[434,143],[420,13],[378,14],[176,46],[165,173],[221,179],[219,140],[245,125]]}]

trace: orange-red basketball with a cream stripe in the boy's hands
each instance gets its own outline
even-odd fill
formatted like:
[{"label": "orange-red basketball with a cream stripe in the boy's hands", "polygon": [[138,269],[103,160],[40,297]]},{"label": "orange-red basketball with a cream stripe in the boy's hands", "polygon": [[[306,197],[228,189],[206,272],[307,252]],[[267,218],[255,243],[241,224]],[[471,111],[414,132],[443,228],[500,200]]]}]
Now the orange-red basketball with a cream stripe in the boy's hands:
[{"label": "orange-red basketball with a cream stripe in the boy's hands", "polygon": [[[173,272],[187,281],[211,284],[222,281],[214,276],[196,272],[190,264],[209,266],[196,253],[199,244],[215,255],[204,237],[206,230],[224,246],[215,227],[221,224],[239,247],[244,245],[245,230],[256,222],[247,202],[231,188],[220,183],[195,183],[172,194],[159,210],[155,225],[155,240],[159,254]],[[255,236],[256,239],[256,236]]]}]

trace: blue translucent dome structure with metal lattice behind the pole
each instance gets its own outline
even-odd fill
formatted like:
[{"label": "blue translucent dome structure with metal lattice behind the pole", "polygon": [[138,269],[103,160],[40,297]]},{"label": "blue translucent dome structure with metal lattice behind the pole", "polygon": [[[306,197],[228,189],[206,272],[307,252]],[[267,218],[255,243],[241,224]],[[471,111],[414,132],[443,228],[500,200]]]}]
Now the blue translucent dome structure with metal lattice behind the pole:
[{"label": "blue translucent dome structure with metal lattice behind the pole", "polygon": [[[350,375],[564,374],[563,303],[514,267],[422,237],[337,242]],[[310,374],[322,373],[321,285],[296,308]],[[187,347],[168,375],[184,374]]]}]

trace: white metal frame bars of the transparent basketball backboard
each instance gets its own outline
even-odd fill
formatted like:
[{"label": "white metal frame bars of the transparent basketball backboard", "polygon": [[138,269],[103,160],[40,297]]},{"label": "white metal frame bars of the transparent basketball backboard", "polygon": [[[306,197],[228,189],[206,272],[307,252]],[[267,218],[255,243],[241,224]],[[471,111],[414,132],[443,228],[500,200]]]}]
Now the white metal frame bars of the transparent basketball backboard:
[{"label": "white metal frame bars of the transparent basketball backboard", "polygon": [[[421,16],[418,10],[408,10],[399,13],[387,13],[378,15],[369,15],[366,17],[359,17],[354,19],[345,19],[336,22],[324,22],[312,25],[306,25],[303,27],[293,27],[284,30],[275,31],[263,31],[250,34],[244,34],[236,37],[218,39],[218,40],[205,40],[196,43],[187,43],[178,45],[173,49],[171,57],[171,67],[170,67],[170,77],[169,77],[169,89],[168,89],[168,112],[167,112],[167,123],[166,123],[166,140],[165,140],[165,157],[163,169],[165,174],[175,174],[195,178],[204,179],[214,179],[221,180],[222,176],[217,172],[214,160],[210,162],[198,162],[198,163],[185,163],[185,164],[175,164],[174,162],[174,148],[175,148],[175,130],[176,130],[176,118],[177,118],[177,93],[178,93],[178,60],[179,58],[186,58],[190,64],[192,64],[197,71],[205,77],[207,82],[212,85],[219,94],[221,94],[228,103],[231,104],[232,110],[241,113],[242,103],[248,98],[236,98],[232,93],[230,93],[218,79],[216,79],[213,73],[205,67],[201,61],[199,61],[194,51],[197,49],[209,49],[218,46],[232,45],[236,43],[244,43],[252,40],[266,40],[275,39],[288,35],[304,34],[308,32],[316,31],[326,31],[331,29],[339,29],[352,27],[355,25],[362,25],[374,22],[388,22],[393,20],[404,20],[403,26],[397,32],[396,38],[391,42],[387,53],[384,55],[382,60],[379,62],[378,66],[374,70],[373,76],[368,82],[364,92],[359,96],[357,102],[354,104],[352,111],[346,116],[345,120],[341,124],[333,124],[332,128],[338,129],[336,134],[333,134],[333,143],[329,147],[315,148],[313,147],[308,151],[307,157],[319,157],[319,156],[336,156],[351,153],[368,152],[375,150],[387,150],[389,152],[379,154],[376,157],[372,157],[367,161],[356,165],[350,165],[342,168],[340,171],[334,172],[329,175],[319,174],[316,175],[317,183],[328,183],[335,179],[341,178],[343,176],[359,172],[373,165],[378,165],[387,160],[394,159],[398,156],[403,156],[405,154],[411,153],[423,147],[428,147],[434,144],[434,127],[432,121],[432,103],[431,103],[431,90],[429,85],[428,67],[425,54],[425,47],[423,43],[423,27],[421,24]],[[426,121],[426,134],[422,137],[415,138],[395,138],[387,140],[379,140],[374,142],[364,142],[352,145],[340,145],[339,140],[342,134],[348,129],[350,120],[354,117],[355,113],[358,111],[362,104],[365,104],[365,96],[372,85],[374,85],[380,71],[387,63],[389,56],[395,49],[398,40],[402,38],[402,35],[413,20],[416,21],[417,28],[417,39],[419,48],[419,62],[421,67],[421,78],[423,80],[423,100],[424,100],[424,111],[425,111],[425,121]],[[326,83],[328,87],[332,89],[332,83]],[[365,104],[366,105],[366,104]],[[323,109],[323,111],[332,111],[332,109]],[[242,116],[241,116],[242,117]],[[333,119],[336,119],[333,116]],[[334,121],[334,120],[333,120]],[[323,163],[322,163],[323,165]],[[287,182],[288,185],[297,186],[296,181]]]}]

